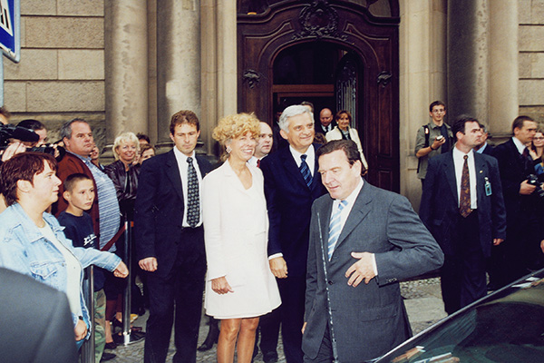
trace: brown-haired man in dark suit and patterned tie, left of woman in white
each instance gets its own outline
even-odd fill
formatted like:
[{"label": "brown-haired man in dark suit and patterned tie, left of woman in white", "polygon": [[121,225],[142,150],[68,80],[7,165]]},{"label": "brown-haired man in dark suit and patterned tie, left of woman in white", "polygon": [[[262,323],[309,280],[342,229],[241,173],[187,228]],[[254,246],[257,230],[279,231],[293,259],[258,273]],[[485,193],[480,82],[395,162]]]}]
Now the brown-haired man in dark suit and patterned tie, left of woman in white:
[{"label": "brown-haired man in dark suit and patterned tie, left of woman in white", "polygon": [[[141,165],[134,235],[142,270],[148,271],[150,318],[144,361],[164,362],[175,304],[174,362],[195,362],[206,273],[199,184],[210,163],[195,155],[199,119],[175,113],[170,139],[175,147]],[[196,160],[196,162],[195,162]]]}]

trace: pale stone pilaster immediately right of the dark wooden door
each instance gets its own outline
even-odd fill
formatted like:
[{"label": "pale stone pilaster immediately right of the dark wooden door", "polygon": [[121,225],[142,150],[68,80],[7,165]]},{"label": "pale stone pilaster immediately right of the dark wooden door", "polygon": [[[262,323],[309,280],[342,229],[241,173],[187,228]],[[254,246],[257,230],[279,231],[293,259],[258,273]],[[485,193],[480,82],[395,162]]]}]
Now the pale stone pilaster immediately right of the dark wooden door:
[{"label": "pale stone pilaster immediately right of the dark wooden door", "polygon": [[399,0],[401,193],[416,210],[422,183],[416,175],[415,134],[430,121],[429,103],[446,102],[446,1]]}]

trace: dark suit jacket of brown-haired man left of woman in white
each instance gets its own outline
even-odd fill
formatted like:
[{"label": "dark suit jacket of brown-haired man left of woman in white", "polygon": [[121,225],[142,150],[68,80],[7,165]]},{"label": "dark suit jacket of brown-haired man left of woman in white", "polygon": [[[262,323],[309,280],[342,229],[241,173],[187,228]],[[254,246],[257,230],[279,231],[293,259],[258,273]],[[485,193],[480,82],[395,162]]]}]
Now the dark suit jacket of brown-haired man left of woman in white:
[{"label": "dark suit jacket of brown-haired man left of woman in white", "polygon": [[[211,164],[197,155],[202,178]],[[183,191],[180,168],[174,151],[166,152],[141,164],[134,216],[134,236],[138,259],[157,258],[155,273],[165,276],[176,260],[183,240]],[[194,242],[193,242],[194,243]],[[190,246],[196,256],[205,258],[204,241]]]}]

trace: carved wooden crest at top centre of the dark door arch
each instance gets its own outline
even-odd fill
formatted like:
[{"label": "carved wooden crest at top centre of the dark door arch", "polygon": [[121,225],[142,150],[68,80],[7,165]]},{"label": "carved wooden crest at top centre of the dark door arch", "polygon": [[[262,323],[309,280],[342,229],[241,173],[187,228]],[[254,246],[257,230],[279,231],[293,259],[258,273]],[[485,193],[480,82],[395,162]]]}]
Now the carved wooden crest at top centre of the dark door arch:
[{"label": "carved wooden crest at top centre of the dark door arch", "polygon": [[345,34],[338,32],[338,13],[327,0],[314,0],[312,5],[304,7],[298,15],[298,22],[301,29],[293,35],[294,39],[308,36],[347,39]]}]

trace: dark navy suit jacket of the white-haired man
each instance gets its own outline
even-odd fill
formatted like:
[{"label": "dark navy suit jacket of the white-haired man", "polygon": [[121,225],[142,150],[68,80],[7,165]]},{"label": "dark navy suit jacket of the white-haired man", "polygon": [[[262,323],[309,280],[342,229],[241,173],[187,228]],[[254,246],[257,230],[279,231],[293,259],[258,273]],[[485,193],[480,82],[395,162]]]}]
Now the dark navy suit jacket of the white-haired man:
[{"label": "dark navy suit jacket of the white-haired man", "polygon": [[[314,144],[315,150],[318,146]],[[260,168],[265,176],[270,221],[268,256],[283,253],[289,276],[304,277],[312,203],[325,194],[317,158],[309,188],[288,147],[272,152],[261,161]]]}]

